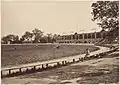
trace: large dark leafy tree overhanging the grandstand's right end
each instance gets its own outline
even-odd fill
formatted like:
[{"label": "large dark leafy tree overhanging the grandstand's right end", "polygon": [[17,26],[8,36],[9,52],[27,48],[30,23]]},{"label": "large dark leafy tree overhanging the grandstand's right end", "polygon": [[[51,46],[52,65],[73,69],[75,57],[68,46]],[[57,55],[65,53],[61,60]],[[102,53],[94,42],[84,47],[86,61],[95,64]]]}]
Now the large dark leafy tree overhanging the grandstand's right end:
[{"label": "large dark leafy tree overhanging the grandstand's right end", "polygon": [[[104,30],[108,38],[119,36],[119,1],[97,1],[92,3],[92,20]],[[113,37],[114,36],[114,37]]]}]

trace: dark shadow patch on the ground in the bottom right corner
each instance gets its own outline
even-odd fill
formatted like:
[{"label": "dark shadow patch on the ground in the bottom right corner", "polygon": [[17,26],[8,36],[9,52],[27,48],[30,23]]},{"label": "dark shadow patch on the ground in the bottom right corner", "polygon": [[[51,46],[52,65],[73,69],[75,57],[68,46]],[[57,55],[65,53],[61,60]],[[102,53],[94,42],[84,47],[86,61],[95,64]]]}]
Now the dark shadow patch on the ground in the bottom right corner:
[{"label": "dark shadow patch on the ground in the bottom right corner", "polygon": [[97,73],[83,73],[83,78],[81,80],[77,80],[79,84],[99,84],[99,83],[118,83],[119,82],[119,68],[115,68],[108,73],[104,73],[104,71],[100,71]]}]

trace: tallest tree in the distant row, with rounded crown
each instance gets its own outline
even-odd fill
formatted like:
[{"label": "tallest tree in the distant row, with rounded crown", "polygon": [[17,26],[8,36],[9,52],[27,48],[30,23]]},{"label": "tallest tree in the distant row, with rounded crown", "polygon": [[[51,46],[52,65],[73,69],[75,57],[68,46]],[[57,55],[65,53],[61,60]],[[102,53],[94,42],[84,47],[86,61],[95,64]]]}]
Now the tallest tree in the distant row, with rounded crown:
[{"label": "tallest tree in the distant row, with rounded crown", "polygon": [[40,42],[41,37],[43,36],[43,32],[37,28],[32,30],[34,36],[34,43]]}]

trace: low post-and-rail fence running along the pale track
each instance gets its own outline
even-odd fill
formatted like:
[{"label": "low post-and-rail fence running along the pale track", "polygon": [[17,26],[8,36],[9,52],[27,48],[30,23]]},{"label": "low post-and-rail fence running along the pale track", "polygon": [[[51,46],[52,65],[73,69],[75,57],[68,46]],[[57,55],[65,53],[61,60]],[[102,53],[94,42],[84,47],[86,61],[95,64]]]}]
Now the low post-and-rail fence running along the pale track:
[{"label": "low post-and-rail fence running along the pale track", "polygon": [[59,62],[51,62],[51,63],[25,66],[25,67],[4,69],[4,70],[1,70],[1,78],[24,75],[24,74],[34,73],[34,72],[40,72],[40,71],[45,71],[45,70],[49,70],[49,69],[53,69],[53,68],[59,68],[61,66],[70,65],[73,63],[77,63],[77,62],[83,62],[83,61],[94,59],[94,58],[101,58],[104,55],[114,52],[116,50],[118,50],[118,48],[115,48],[115,49],[107,51],[107,52],[102,52],[99,54],[91,55],[88,57],[74,58],[69,61],[65,60],[65,61],[59,61]]}]

